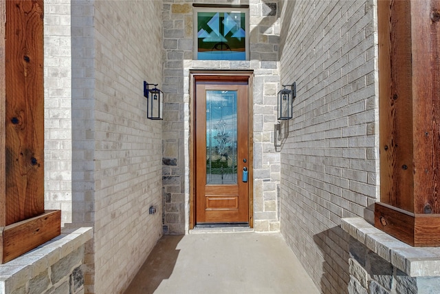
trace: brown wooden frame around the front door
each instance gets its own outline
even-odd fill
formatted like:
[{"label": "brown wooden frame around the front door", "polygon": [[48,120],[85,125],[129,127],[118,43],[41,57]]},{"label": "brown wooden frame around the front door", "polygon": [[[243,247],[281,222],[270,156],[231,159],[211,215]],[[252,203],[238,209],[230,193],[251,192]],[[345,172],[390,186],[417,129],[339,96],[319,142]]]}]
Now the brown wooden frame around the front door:
[{"label": "brown wooden frame around the front door", "polygon": [[190,70],[190,144],[189,144],[189,158],[190,158],[190,209],[189,209],[189,229],[194,229],[195,227],[195,80],[203,79],[205,81],[221,81],[221,80],[232,80],[234,78],[247,78],[248,79],[248,107],[249,107],[249,132],[248,132],[248,142],[249,142],[249,165],[248,165],[248,176],[249,176],[249,189],[248,189],[248,200],[249,200],[249,213],[248,221],[249,226],[254,227],[254,71],[253,70],[243,70],[243,71],[226,71],[226,70]]}]

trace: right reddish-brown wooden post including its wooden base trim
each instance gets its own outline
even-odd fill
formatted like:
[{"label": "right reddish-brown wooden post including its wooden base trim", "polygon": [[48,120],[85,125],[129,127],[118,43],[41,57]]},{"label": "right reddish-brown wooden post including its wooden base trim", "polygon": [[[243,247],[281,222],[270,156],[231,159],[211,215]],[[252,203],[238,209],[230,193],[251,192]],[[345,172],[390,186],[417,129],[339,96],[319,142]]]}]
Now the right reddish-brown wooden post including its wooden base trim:
[{"label": "right reddish-brown wooden post including its wooden base trim", "polygon": [[378,31],[375,226],[412,246],[440,246],[440,0],[380,0]]}]

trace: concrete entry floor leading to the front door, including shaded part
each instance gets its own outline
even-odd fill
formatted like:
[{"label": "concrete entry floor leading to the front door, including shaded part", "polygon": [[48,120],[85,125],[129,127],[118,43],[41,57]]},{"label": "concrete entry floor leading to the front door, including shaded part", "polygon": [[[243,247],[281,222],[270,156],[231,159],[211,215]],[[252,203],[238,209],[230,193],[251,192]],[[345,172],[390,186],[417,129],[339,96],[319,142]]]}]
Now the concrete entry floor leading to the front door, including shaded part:
[{"label": "concrete entry floor leading to the front door, including shaded part", "polygon": [[126,294],[319,291],[280,233],[165,235]]}]

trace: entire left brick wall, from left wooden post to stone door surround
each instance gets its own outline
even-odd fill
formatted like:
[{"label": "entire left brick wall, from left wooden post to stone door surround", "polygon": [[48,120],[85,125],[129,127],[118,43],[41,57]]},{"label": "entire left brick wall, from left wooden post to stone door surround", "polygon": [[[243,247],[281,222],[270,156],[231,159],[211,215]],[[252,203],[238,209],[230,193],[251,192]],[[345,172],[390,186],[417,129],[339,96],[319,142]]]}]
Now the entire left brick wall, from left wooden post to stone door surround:
[{"label": "entire left brick wall, from left wooden post to stone door surround", "polygon": [[94,227],[85,293],[123,291],[162,235],[148,214],[162,211],[162,122],[143,96],[144,80],[162,84],[162,6],[127,3],[45,6],[46,205]]}]

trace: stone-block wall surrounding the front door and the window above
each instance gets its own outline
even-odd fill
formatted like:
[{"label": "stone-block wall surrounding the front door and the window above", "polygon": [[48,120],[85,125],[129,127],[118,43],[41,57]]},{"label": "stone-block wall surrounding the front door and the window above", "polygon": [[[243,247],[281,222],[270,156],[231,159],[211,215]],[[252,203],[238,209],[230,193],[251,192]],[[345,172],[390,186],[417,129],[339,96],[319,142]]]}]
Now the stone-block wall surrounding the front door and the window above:
[{"label": "stone-block wall surrounding the front door and the window above", "polygon": [[279,230],[280,157],[274,150],[278,92],[279,22],[276,1],[215,1],[249,4],[250,61],[193,60],[192,3],[164,0],[164,231],[185,233],[189,221],[190,70],[254,71],[254,229]]}]

